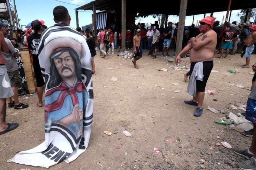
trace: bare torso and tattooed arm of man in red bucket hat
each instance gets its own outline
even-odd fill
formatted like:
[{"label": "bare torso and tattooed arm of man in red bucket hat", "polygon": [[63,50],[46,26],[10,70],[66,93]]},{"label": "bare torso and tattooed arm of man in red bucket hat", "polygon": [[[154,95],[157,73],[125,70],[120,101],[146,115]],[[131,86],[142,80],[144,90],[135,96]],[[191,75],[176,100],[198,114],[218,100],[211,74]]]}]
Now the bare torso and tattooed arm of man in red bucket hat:
[{"label": "bare torso and tattooed arm of man in red bucket hat", "polygon": [[191,39],[190,60],[192,62],[213,61],[214,50],[217,44],[216,32],[211,29]]}]

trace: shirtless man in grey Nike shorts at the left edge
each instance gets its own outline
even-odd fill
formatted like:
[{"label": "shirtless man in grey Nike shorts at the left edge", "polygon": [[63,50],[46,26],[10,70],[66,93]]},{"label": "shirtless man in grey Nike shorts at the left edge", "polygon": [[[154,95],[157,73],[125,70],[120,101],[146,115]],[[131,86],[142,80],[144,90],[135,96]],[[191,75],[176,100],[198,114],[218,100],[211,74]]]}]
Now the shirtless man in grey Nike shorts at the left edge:
[{"label": "shirtless man in grey Nike shorts at the left edge", "polygon": [[[0,24],[2,28],[3,24]],[[5,53],[9,53],[9,48],[7,43],[4,40],[4,35],[0,33],[0,47],[1,51]],[[10,79],[4,65],[4,57],[2,53],[0,53],[0,135],[9,132],[13,129],[16,129],[19,124],[18,123],[6,123],[6,98],[12,97],[14,95],[12,91],[12,86],[10,83]]]}]

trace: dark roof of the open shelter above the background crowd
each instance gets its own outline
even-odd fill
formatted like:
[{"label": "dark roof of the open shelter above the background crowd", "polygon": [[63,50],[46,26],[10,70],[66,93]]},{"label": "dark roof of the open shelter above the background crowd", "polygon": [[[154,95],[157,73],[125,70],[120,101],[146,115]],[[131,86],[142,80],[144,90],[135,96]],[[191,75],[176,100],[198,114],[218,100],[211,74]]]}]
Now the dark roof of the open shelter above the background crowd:
[{"label": "dark roof of the open shelter above the background crowd", "polygon": [[[186,16],[198,15],[204,13],[227,11],[228,0],[188,0]],[[95,4],[96,10],[106,11],[122,11],[122,0],[95,0],[85,4],[76,10],[93,10]],[[256,0],[232,0],[230,10],[256,8]],[[126,12],[136,16],[152,15],[152,14],[168,14],[179,15],[180,0],[159,0],[153,3],[145,0],[127,0]]]}]

